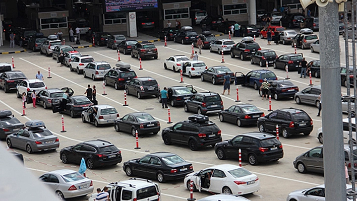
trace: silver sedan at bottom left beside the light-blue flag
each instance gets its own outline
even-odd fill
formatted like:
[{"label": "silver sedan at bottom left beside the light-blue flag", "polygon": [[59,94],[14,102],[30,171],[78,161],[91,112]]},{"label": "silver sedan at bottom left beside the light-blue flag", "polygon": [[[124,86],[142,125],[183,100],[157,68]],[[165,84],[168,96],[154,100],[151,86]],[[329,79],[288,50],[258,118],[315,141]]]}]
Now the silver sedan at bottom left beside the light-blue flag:
[{"label": "silver sedan at bottom left beside the light-blue flag", "polygon": [[60,199],[85,196],[93,192],[93,181],[74,170],[54,170],[43,174],[39,180]]}]

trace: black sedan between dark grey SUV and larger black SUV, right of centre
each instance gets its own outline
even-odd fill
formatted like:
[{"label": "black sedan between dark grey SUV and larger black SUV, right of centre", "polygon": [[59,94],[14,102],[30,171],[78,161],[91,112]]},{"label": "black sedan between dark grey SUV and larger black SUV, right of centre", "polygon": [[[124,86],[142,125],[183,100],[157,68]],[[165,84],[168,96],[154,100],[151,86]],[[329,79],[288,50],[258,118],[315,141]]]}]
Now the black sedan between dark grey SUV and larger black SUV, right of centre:
[{"label": "black sedan between dark grey SUV and larger black SUV, right of centre", "polygon": [[257,124],[259,117],[264,116],[264,112],[260,111],[252,104],[237,104],[232,105],[228,109],[219,112],[219,120],[234,123],[239,127],[243,125]]}]

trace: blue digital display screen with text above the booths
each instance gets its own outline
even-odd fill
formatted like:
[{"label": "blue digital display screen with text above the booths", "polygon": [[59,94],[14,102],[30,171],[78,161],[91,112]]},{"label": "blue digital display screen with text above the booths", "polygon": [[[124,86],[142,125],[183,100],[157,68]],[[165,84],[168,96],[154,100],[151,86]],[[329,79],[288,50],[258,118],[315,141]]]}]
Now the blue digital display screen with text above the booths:
[{"label": "blue digital display screen with text above the booths", "polygon": [[105,0],[105,12],[136,11],[157,8],[157,0]]}]

